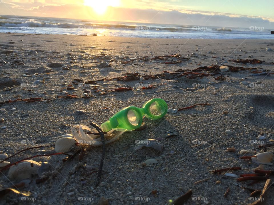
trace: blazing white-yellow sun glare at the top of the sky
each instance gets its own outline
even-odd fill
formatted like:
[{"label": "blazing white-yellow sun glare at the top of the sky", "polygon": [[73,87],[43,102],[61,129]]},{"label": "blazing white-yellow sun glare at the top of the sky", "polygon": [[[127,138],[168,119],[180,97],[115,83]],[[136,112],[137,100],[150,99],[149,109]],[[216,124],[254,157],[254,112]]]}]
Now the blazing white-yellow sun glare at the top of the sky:
[{"label": "blazing white-yellow sun glare at the top of the sky", "polygon": [[120,0],[84,0],[84,5],[92,7],[97,14],[104,14],[109,6],[117,7]]}]

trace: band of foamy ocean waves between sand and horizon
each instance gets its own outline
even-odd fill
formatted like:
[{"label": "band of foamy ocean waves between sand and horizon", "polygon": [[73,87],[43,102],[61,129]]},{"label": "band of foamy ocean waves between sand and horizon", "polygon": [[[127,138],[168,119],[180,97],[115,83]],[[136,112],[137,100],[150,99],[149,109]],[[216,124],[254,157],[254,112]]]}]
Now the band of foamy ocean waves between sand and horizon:
[{"label": "band of foamy ocean waves between sand and horizon", "polygon": [[230,28],[0,15],[0,32],[141,38],[274,39],[263,27]]}]

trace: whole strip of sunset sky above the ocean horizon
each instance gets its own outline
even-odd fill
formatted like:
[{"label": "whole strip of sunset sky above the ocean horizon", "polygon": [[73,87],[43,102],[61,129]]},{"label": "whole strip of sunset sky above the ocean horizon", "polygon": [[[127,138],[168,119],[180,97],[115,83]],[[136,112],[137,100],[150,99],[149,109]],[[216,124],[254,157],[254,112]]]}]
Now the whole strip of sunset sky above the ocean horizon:
[{"label": "whole strip of sunset sky above the ocean horizon", "polygon": [[0,15],[274,29],[273,0],[0,0]]}]

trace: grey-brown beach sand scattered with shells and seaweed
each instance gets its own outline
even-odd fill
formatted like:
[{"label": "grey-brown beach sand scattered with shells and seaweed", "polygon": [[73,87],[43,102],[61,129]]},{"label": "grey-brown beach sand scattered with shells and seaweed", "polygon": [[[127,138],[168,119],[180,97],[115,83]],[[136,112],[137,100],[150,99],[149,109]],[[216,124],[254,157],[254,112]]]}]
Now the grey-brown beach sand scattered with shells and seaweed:
[{"label": "grey-brown beach sand scattered with shells and seaweed", "polygon": [[[212,76],[201,79],[186,77],[171,80],[149,79],[142,83],[154,85],[155,88],[140,91],[136,91],[140,89],[136,87],[136,83],[140,83],[139,80],[109,80],[98,82],[98,89],[131,86],[133,90],[106,92],[106,95],[100,95],[98,92],[88,93],[93,95],[89,99],[63,100],[57,99],[57,95],[62,95],[60,89],[67,91],[67,86],[62,84],[71,84],[73,79],[98,80],[105,77],[112,79],[123,76],[122,73],[133,72],[155,75],[163,71],[221,65],[223,61],[225,65],[259,67],[261,68],[257,69],[259,71],[269,69],[273,72],[273,65],[267,64],[274,61],[273,52],[265,51],[267,47],[274,48],[273,42],[21,34],[0,34],[0,42],[0,53],[6,50],[13,51],[11,54],[0,55],[1,73],[9,73],[0,76],[0,101],[30,97],[53,100],[50,103],[16,102],[1,105],[6,112],[0,113],[0,118],[4,118],[0,126],[7,128],[0,130],[0,151],[8,155],[31,146],[54,144],[59,136],[71,134],[71,127],[74,125],[89,125],[90,122],[101,124],[118,110],[130,105],[142,107],[142,104],[149,99],[162,98],[167,102],[168,108],[177,109],[197,103],[210,104],[175,114],[167,113],[164,118],[156,121],[144,118],[147,124],[144,130],[125,132],[115,142],[106,145],[102,179],[97,188],[95,188],[97,174],[92,172],[98,171],[101,147],[89,147],[85,149],[82,160],[77,156],[65,163],[62,162],[65,157],[63,155],[34,158],[33,160],[38,162],[50,163],[53,171],[52,177],[43,183],[37,185],[35,179],[38,177],[34,176],[29,186],[18,188],[21,191],[30,191],[32,194],[29,197],[35,198],[35,201],[24,202],[21,200],[21,195],[9,193],[0,199],[1,204],[98,204],[102,196],[112,205],[168,204],[169,200],[178,198],[190,189],[193,198],[190,198],[186,204],[248,204],[253,202],[249,200],[250,192],[241,186],[263,189],[265,181],[247,185],[250,181],[239,183],[232,177],[223,176],[225,172],[214,175],[212,171],[239,166],[241,170],[229,171],[229,173],[240,175],[252,173],[258,166],[251,161],[240,160],[239,151],[246,149],[251,155],[259,153],[259,144],[250,143],[250,140],[255,141],[258,135],[266,136],[265,143],[274,139],[274,75],[251,76],[250,71],[247,70],[227,71],[223,73],[226,77],[224,81],[217,81]],[[104,48],[106,50],[102,50]],[[33,51],[30,53],[30,50],[37,53]],[[106,71],[99,71],[101,68],[98,68],[99,59],[96,56],[103,54],[107,54],[112,59],[111,71],[107,71],[108,68],[104,68]],[[129,58],[172,54],[181,54],[190,58],[190,61],[179,65],[162,64],[156,60],[147,62],[135,60],[126,65],[121,64],[121,61]],[[79,55],[83,55],[82,58],[79,59]],[[72,58],[75,60],[69,63]],[[259,59],[266,63],[252,65],[229,61],[237,58]],[[1,59],[4,62],[1,62]],[[15,64],[14,59],[22,60],[23,63]],[[70,68],[62,70],[47,67],[52,62],[63,63]],[[43,73],[43,71],[49,72],[49,69],[55,72]],[[37,77],[23,76],[23,74],[35,73],[42,74]],[[45,79],[45,83],[32,86],[33,82],[44,77],[52,79]],[[15,79],[19,85],[10,90],[5,89],[15,82],[11,79]],[[247,87],[241,85],[240,81],[261,83],[258,83],[259,86]],[[25,83],[27,87],[24,89],[21,83]],[[193,90],[193,84],[200,86]],[[179,88],[172,87],[174,85]],[[82,88],[74,87],[75,90],[67,92],[83,96]],[[86,90],[90,89],[86,88]],[[12,108],[16,110],[11,111]],[[78,114],[76,110],[85,110],[86,113]],[[224,111],[228,114],[223,114]],[[21,117],[23,114],[29,116]],[[177,133],[178,136],[166,139],[165,134],[168,130]],[[228,135],[225,130],[231,130],[233,134]],[[164,146],[162,152],[149,148],[133,152],[136,140],[158,137],[164,138],[160,142]],[[29,144],[22,144],[22,140]],[[227,147],[235,147],[236,152],[227,152]],[[268,150],[273,151],[273,148],[270,147]],[[8,161],[15,162],[47,153],[54,153],[54,147],[26,151]],[[156,159],[158,163],[143,167],[142,162],[150,158]],[[273,166],[269,168],[273,169]],[[8,171],[1,171],[1,188],[18,183],[9,179],[7,173]],[[211,179],[194,184],[209,177]],[[221,181],[220,184],[215,183],[218,180]],[[224,197],[228,187],[230,192]],[[155,190],[156,194],[152,194]],[[273,187],[269,188],[265,204],[272,204],[274,200],[272,192]],[[199,200],[196,200],[197,198]]]}]

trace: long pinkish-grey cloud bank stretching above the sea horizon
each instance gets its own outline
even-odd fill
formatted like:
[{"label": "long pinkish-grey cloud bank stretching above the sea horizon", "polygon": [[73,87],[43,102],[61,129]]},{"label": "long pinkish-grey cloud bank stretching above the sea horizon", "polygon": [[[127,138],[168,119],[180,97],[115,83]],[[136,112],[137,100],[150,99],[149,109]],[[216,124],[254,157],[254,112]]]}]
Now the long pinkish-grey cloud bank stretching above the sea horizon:
[{"label": "long pinkish-grey cloud bank stretching above the sea horizon", "polygon": [[[47,1],[50,3],[51,1]],[[52,1],[52,3],[56,3]],[[3,5],[5,4],[5,5]],[[16,5],[19,5],[16,6]],[[91,7],[76,4],[43,5],[39,2],[31,7],[23,7],[19,3],[0,3],[0,13],[5,15],[26,15],[41,17],[59,17],[70,19],[93,19],[130,21],[160,24],[179,24],[196,26],[245,27],[261,26],[273,28],[274,22],[262,17],[250,17],[228,13],[211,13],[194,10],[160,11],[157,9],[136,9],[108,7],[103,16],[97,15]]]}]

